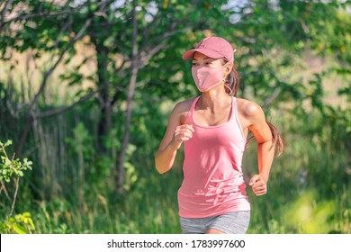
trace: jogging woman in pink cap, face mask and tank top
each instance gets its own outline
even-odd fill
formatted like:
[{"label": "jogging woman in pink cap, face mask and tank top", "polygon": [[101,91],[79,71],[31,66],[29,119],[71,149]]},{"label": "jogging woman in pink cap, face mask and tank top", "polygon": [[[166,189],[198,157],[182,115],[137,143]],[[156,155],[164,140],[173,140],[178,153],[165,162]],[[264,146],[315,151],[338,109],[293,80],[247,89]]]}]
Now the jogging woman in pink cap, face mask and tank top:
[{"label": "jogging woman in pink cap, face mask and tank top", "polygon": [[266,122],[262,108],[236,98],[235,50],[227,40],[209,37],[186,51],[192,59],[199,97],[175,105],[155,155],[157,171],[166,173],[184,143],[184,180],[178,191],[184,233],[246,233],[250,203],[241,162],[250,130],[257,140],[257,174],[248,182],[257,195],[266,194],[275,156],[283,142]]}]

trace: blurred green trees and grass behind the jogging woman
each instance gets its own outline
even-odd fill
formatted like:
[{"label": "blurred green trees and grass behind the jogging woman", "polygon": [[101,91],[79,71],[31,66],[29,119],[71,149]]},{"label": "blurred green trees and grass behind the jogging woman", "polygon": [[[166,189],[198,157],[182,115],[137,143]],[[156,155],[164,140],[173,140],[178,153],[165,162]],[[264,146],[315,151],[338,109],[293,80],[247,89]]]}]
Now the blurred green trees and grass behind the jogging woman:
[{"label": "blurred green trees and grass behind the jogging woman", "polygon": [[351,233],[347,1],[10,0],[0,20],[1,233],[180,233],[182,153],[165,175],[154,153],[210,35],[285,141],[248,233]]}]

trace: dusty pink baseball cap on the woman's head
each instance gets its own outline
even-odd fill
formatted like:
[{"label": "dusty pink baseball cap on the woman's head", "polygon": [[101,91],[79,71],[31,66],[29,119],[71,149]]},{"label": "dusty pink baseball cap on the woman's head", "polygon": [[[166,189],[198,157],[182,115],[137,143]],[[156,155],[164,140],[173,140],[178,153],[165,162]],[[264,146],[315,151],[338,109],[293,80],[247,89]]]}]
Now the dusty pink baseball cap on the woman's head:
[{"label": "dusty pink baseball cap on the woman's head", "polygon": [[183,54],[183,59],[193,58],[193,54],[198,51],[210,58],[227,58],[228,61],[234,58],[235,50],[229,41],[220,37],[208,37],[201,40],[195,49],[189,49]]}]

